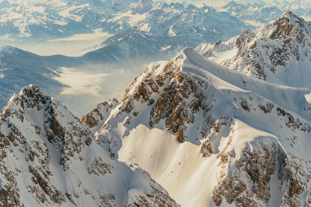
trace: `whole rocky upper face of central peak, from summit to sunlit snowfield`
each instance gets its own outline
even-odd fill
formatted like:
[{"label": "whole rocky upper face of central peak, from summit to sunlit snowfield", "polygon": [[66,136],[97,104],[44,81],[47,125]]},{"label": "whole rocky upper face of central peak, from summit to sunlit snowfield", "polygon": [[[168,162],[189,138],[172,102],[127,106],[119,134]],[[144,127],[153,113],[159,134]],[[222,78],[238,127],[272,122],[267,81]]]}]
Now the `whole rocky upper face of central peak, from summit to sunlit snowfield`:
[{"label": "whole rocky upper face of central peak, from summit to sunlit snowfield", "polygon": [[[187,48],[186,50],[193,49]],[[207,136],[212,128],[215,128],[217,131],[222,125],[226,125],[226,121],[219,120],[222,119],[221,117],[216,119],[208,114],[212,105],[205,103],[210,100],[206,100],[203,93],[203,90],[208,88],[207,81],[199,76],[182,72],[179,65],[182,64],[185,57],[185,53],[181,52],[169,63],[162,64],[161,66],[155,64],[152,67],[148,67],[144,74],[136,77],[125,90],[125,95],[120,103],[121,106],[119,106],[120,111],[113,115],[114,118],[118,119],[126,114],[130,114],[124,120],[123,126],[127,126],[138,114],[136,106],[140,104],[147,105],[150,108],[150,127],[156,127],[163,120],[166,130],[175,133],[177,140],[181,143],[188,138],[187,125],[193,124],[195,116],[200,110],[205,111],[202,136]],[[159,74],[152,75],[158,70],[161,70]],[[94,110],[91,113],[94,113]],[[87,116],[89,115],[91,114]],[[88,119],[99,120],[96,117],[99,116],[93,115]],[[109,134],[109,130],[113,127],[109,126],[109,122],[109,120],[106,121],[100,133]],[[104,137],[107,136],[109,137],[109,135]],[[111,145],[111,140],[102,140],[102,142]],[[114,142],[113,147],[117,145],[117,141]]]}]

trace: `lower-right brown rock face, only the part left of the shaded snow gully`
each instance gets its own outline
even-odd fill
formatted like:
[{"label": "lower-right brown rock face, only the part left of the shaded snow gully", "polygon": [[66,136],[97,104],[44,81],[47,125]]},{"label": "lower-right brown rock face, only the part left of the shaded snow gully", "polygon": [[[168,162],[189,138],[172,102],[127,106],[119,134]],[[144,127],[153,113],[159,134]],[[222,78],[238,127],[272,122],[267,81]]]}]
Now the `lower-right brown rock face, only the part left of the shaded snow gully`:
[{"label": "lower-right brown rock face, only the part left of the shaded snow gully", "polygon": [[[230,169],[219,186],[214,188],[213,200],[216,205],[219,206],[225,198],[229,204],[234,202],[236,206],[266,206],[270,200],[269,181],[277,168],[276,149],[274,143],[265,143],[258,151],[245,147],[241,157],[234,163],[238,171]],[[228,162],[222,164],[227,165]],[[245,176],[243,179],[241,174]],[[245,192],[244,195],[241,195],[242,192]],[[254,201],[254,198],[262,201],[262,204]]]}]

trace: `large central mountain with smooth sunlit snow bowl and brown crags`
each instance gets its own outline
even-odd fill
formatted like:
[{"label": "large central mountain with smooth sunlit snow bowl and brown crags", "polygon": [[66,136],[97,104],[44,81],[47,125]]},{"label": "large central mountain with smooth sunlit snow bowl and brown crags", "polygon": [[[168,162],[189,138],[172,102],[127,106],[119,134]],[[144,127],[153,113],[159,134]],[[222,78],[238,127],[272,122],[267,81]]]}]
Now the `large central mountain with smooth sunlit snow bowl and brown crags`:
[{"label": "large central mountain with smooth sunlit snow bowl and brown crags", "polygon": [[308,206],[310,92],[185,48],[151,63],[121,100],[99,104],[82,123],[182,206]]}]

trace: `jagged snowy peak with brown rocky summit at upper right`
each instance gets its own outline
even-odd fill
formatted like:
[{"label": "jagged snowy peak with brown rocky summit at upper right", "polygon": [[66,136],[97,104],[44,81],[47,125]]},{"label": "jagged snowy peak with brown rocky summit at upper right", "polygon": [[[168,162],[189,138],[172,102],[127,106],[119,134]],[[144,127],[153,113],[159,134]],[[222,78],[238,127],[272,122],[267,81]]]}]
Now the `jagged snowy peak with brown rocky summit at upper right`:
[{"label": "jagged snowy peak with brown rocky summit at upper right", "polygon": [[270,83],[311,88],[311,24],[291,11],[254,34],[250,30],[227,42],[202,44],[208,59]]}]

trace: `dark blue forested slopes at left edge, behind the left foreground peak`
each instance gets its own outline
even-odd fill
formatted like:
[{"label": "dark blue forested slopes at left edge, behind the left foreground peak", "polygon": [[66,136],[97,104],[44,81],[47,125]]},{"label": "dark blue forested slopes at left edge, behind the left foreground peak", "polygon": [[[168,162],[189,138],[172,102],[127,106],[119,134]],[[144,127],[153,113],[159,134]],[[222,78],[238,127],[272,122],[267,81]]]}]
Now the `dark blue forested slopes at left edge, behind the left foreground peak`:
[{"label": "dark blue forested slopes at left edge, behind the left foreground peak", "polygon": [[55,80],[62,74],[60,67],[77,67],[90,64],[83,58],[61,55],[39,56],[16,47],[0,47],[0,107],[25,85],[34,83],[41,91],[59,94],[68,87]]}]

